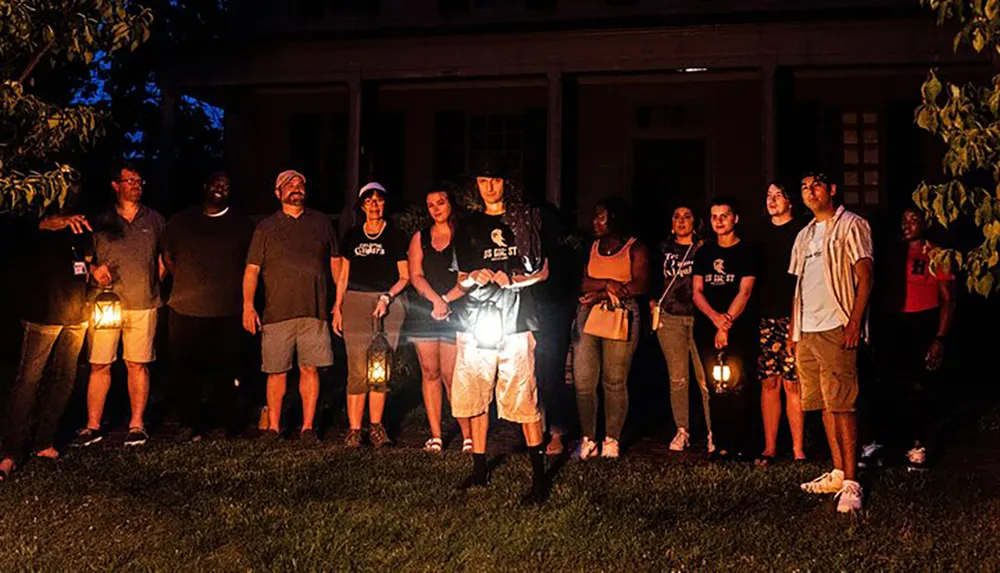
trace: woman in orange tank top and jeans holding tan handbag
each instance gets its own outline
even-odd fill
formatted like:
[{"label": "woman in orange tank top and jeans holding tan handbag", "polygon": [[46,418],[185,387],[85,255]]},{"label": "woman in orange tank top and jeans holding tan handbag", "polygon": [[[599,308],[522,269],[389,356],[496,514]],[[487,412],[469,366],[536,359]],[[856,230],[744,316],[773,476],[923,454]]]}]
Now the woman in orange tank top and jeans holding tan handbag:
[{"label": "woman in orange tank top and jeans holding tan handbag", "polygon": [[583,438],[573,454],[586,460],[598,455],[597,384],[604,386],[604,434],[600,455],[617,458],[628,415],[628,380],[639,341],[636,296],[646,294],[648,253],[634,237],[622,234],[625,203],[599,203],[594,216],[594,244],[587,260],[573,343],[573,377]]}]

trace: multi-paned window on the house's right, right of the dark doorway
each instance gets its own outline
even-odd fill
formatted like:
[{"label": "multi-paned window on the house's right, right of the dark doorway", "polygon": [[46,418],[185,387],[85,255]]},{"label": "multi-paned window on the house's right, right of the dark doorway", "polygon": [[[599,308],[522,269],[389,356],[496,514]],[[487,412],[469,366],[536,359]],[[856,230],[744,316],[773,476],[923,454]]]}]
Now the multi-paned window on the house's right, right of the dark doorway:
[{"label": "multi-paned window on the house's right, right of the dark doorway", "polygon": [[879,146],[879,114],[845,111],[841,115],[844,150],[844,203],[877,206],[880,202],[882,152]]}]

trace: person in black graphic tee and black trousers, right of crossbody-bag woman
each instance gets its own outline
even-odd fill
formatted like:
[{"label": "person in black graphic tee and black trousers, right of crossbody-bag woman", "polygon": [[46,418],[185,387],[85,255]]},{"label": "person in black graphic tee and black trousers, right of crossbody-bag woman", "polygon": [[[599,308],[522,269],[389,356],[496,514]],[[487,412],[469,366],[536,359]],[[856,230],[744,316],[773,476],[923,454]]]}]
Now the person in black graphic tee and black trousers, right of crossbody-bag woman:
[{"label": "person in black graphic tee and black trousers, right of crossbody-bag woman", "polygon": [[736,235],[739,215],[735,201],[712,201],[712,230],[716,242],[703,246],[694,260],[694,304],[701,311],[695,321],[695,341],[711,375],[719,351],[725,352],[732,370],[733,390],[712,397],[712,434],[709,451],[716,459],[741,459],[746,455],[744,388],[750,380],[748,358],[753,354],[754,328],[744,316],[757,262],[753,250]]}]

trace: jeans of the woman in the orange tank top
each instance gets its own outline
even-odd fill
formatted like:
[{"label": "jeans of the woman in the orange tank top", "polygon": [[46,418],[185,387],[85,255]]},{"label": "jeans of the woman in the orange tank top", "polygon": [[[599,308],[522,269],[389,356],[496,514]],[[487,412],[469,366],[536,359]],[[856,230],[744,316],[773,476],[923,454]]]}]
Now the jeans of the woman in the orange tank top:
[{"label": "jeans of the woman in the orange tank top", "polygon": [[634,301],[625,303],[632,314],[628,340],[608,340],[583,332],[591,306],[577,310],[573,340],[573,378],[576,385],[576,407],[580,414],[583,435],[594,439],[597,434],[597,384],[604,385],[604,433],[619,439],[628,416],[628,381],[632,356],[639,343],[641,324],[639,308]]}]

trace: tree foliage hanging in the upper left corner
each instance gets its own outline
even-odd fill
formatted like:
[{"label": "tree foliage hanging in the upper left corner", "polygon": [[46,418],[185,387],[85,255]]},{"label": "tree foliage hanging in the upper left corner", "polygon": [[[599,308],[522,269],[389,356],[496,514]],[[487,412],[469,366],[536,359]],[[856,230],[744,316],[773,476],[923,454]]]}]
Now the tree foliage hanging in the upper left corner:
[{"label": "tree foliage hanging in the upper left corner", "polygon": [[76,178],[66,157],[104,133],[105,111],[35,93],[46,74],[135,50],[152,21],[133,0],[0,0],[0,212],[61,204]]}]

